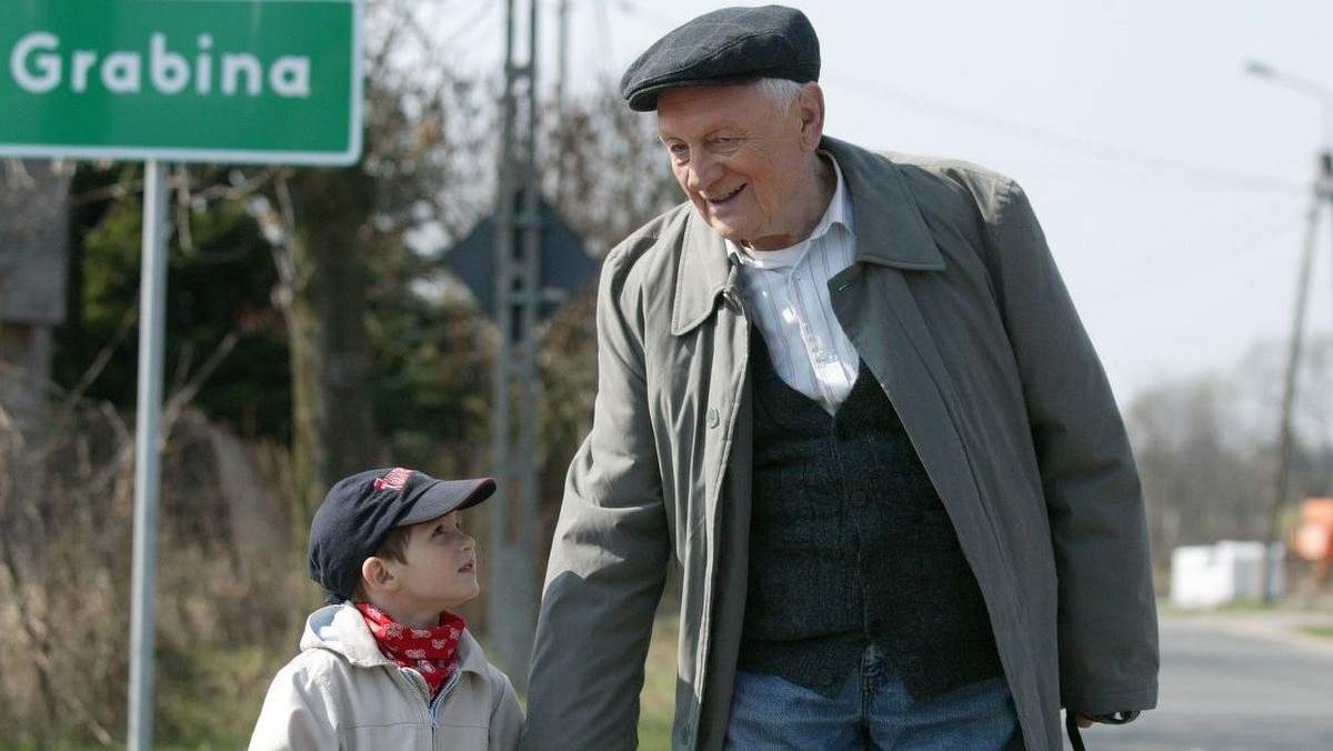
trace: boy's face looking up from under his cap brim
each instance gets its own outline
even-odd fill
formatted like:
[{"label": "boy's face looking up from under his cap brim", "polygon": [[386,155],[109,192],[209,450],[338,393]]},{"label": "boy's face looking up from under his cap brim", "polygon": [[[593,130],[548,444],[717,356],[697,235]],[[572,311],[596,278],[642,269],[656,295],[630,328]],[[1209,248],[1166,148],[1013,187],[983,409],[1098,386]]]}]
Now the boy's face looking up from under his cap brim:
[{"label": "boy's face looking up from under his cap brim", "polygon": [[463,531],[457,511],[409,528],[405,563],[396,564],[399,594],[413,610],[439,612],[457,607],[481,592],[477,583],[477,544]]}]

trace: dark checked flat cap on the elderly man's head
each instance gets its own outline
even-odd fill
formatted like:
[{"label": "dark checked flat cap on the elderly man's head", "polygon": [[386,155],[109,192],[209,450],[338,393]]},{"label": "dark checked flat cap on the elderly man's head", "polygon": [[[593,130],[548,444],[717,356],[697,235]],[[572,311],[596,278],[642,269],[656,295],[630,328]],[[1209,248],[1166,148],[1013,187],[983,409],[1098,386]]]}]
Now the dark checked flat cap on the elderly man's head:
[{"label": "dark checked flat cap on the elderly man's head", "polygon": [[782,5],[722,8],[659,39],[625,71],[620,93],[631,109],[652,112],[668,88],[818,77],[820,40],[805,13]]}]

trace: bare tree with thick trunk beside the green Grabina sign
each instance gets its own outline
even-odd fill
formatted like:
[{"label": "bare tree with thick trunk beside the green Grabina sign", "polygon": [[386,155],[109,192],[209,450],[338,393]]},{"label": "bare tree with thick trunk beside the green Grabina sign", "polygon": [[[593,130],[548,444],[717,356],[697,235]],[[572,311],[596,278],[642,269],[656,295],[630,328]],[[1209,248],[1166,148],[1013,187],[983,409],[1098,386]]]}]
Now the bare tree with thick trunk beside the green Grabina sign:
[{"label": "bare tree with thick trunk beside the green Grabina sign", "polygon": [[[368,316],[428,272],[408,248],[429,225],[457,236],[479,213],[472,188],[493,151],[480,87],[443,63],[413,5],[367,8],[365,152],[343,169],[233,171],[273,245],[292,363],[297,496],[383,459],[371,403]],[[488,173],[488,172],[487,172]],[[235,191],[231,197],[237,197]],[[309,511],[309,508],[307,508]]]}]

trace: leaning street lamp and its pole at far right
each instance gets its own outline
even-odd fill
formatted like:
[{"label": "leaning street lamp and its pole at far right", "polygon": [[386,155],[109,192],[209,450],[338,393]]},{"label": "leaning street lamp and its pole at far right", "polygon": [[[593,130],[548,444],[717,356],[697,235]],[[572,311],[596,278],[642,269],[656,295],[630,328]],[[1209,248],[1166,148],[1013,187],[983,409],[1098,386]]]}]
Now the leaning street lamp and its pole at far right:
[{"label": "leaning street lamp and its pole at far right", "polygon": [[1272,587],[1272,555],[1273,544],[1277,542],[1277,532],[1282,506],[1286,503],[1289,486],[1289,466],[1292,458],[1292,412],[1296,407],[1296,382],[1301,361],[1301,345],[1305,331],[1305,308],[1310,292],[1310,267],[1314,263],[1314,243],[1318,236],[1320,211],[1325,204],[1333,208],[1333,93],[1320,84],[1306,79],[1277,71],[1257,60],[1250,60],[1245,65],[1245,72],[1298,91],[1320,100],[1324,113],[1322,145],[1318,153],[1318,176],[1314,180],[1310,209],[1305,224],[1305,248],[1301,253],[1301,269],[1296,279],[1296,313],[1292,319],[1292,341],[1288,349],[1286,376],[1282,383],[1282,416],[1278,427],[1278,454],[1277,472],[1274,476],[1273,498],[1268,510],[1268,531],[1261,559],[1261,586],[1264,587],[1264,600],[1272,602],[1276,592]]}]

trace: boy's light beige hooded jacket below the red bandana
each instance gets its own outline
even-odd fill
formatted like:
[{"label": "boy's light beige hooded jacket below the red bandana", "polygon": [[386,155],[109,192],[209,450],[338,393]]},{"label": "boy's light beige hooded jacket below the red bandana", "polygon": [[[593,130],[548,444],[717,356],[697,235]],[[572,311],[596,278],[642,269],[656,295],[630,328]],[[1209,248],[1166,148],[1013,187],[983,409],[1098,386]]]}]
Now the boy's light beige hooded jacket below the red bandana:
[{"label": "boy's light beige hooded jacket below the red bandana", "polygon": [[511,751],[523,708],[468,631],[459,667],[428,704],[425,680],[380,652],[355,607],[320,608],[269,686],[249,751]]}]

